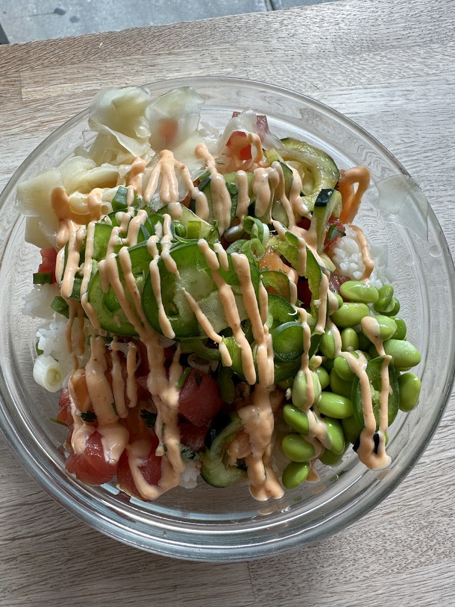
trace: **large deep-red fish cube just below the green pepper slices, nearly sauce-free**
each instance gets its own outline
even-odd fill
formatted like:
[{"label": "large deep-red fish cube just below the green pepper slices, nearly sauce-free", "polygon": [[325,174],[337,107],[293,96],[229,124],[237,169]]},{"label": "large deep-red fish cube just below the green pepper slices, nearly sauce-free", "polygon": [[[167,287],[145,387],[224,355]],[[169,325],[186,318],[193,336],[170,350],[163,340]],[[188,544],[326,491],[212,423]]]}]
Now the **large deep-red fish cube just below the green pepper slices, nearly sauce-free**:
[{"label": "large deep-red fish cube just below the green pepper slices, nearly sauce-free", "polygon": [[218,384],[207,373],[191,369],[178,396],[178,410],[195,426],[206,426],[221,409]]}]

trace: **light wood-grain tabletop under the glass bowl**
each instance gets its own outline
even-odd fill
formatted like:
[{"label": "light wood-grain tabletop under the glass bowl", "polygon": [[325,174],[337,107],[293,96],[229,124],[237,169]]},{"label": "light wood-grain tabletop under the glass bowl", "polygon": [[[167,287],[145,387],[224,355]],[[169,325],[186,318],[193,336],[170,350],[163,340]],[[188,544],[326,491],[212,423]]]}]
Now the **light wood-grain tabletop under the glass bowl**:
[{"label": "light wood-grain tabletop under the glass bowl", "polygon": [[[0,48],[0,188],[99,87],[234,75],[353,118],[420,180],[455,251],[455,3],[346,0]],[[430,448],[373,512],[251,563],[155,557],[79,523],[0,440],[0,605],[455,605],[452,399]]]}]

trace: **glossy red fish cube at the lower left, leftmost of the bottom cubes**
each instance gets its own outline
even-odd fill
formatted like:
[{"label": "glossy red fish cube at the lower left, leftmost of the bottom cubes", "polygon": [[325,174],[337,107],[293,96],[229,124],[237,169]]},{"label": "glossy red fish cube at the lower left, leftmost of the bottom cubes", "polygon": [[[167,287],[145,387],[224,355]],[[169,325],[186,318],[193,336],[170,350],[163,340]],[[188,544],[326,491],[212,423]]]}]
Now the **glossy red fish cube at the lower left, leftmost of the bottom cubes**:
[{"label": "glossy red fish cube at the lower left, leftmost of the bottom cubes", "polygon": [[89,485],[102,485],[115,476],[117,464],[110,464],[104,457],[101,434],[95,430],[87,439],[82,453],[70,453],[66,460],[68,472]]}]

